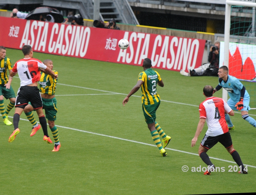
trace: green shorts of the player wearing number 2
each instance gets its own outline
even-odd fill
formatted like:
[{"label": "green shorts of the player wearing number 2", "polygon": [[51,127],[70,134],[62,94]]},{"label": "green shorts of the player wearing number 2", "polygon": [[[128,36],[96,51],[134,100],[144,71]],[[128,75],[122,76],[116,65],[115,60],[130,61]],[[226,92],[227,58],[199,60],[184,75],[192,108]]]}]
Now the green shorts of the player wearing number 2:
[{"label": "green shorts of the player wearing number 2", "polygon": [[144,113],[145,121],[147,124],[155,123],[156,121],[156,110],[160,105],[160,101],[152,105],[142,104],[142,110]]}]

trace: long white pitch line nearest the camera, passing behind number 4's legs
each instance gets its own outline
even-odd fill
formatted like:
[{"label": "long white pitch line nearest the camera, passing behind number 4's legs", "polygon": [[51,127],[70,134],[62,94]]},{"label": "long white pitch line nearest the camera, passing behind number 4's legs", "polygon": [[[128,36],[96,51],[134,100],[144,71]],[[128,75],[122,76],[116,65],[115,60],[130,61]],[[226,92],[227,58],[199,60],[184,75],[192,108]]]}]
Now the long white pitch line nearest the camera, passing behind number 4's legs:
[{"label": "long white pitch line nearest the camera, passing behind number 4's legs", "polygon": [[[8,117],[9,117],[9,118],[13,118],[13,117],[11,117],[11,116],[8,116]],[[20,120],[29,121],[28,119],[20,119]],[[47,124],[47,125],[48,125],[48,124]],[[118,140],[130,141],[130,142],[133,142],[133,143],[139,143],[139,144],[143,144],[143,145],[148,145],[148,146],[157,147],[156,145],[148,144],[148,143],[143,143],[143,142],[140,142],[140,141],[133,141],[133,140],[127,140],[127,139],[124,139],[124,138],[114,137],[114,136],[110,136],[110,135],[97,134],[97,133],[93,133],[93,132],[90,132],[90,131],[84,131],[84,130],[80,130],[80,129],[74,129],[74,128],[70,128],[70,127],[66,127],[66,126],[60,126],[60,125],[55,125],[55,126],[61,127],[61,128],[64,128],[64,129],[71,129],[71,130],[75,130],[75,131],[80,131],[80,132],[84,132],[84,133],[88,133],[88,134],[100,135],[100,136],[110,137],[110,138],[114,138],[114,139],[118,139]],[[176,152],[182,152],[182,153],[186,153],[186,154],[191,154],[191,155],[199,156],[198,154],[192,153],[192,152],[186,152],[186,151],[176,150],[176,149],[172,149],[172,148],[165,148],[165,149],[172,150],[172,151],[176,151]],[[219,161],[224,161],[224,162],[227,162],[227,163],[234,163],[234,164],[236,164],[236,163],[233,162],[233,161],[227,161],[227,160],[223,160],[223,159],[220,159],[220,158],[214,158],[214,157],[210,157],[210,156],[209,156],[209,158],[212,158],[212,159],[215,159],[215,160],[219,160]],[[244,164],[244,165],[245,165],[245,166],[248,166],[248,167],[256,168],[255,166],[252,166],[252,165],[248,165],[248,164]]]}]

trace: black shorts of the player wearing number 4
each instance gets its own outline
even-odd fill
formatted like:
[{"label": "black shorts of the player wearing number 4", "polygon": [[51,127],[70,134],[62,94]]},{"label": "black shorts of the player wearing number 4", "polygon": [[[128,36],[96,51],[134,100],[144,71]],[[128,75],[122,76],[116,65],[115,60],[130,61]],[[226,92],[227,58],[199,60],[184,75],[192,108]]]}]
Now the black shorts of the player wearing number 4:
[{"label": "black shorts of the player wearing number 4", "polygon": [[225,134],[217,135],[214,137],[205,134],[204,139],[201,142],[201,146],[210,149],[218,142],[220,142],[225,148],[230,148],[233,145],[230,133],[227,132]]}]

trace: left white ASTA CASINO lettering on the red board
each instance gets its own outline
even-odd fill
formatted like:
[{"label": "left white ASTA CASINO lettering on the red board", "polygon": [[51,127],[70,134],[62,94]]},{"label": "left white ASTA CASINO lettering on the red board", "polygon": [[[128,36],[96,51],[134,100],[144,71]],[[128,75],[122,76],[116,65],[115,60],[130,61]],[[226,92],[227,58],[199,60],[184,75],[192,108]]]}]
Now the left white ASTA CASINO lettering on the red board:
[{"label": "left white ASTA CASINO lettering on the red board", "polygon": [[[45,51],[47,40],[49,42],[48,52],[53,54],[68,54],[84,57],[91,35],[89,27],[59,25],[55,23],[52,26],[52,32],[48,36],[48,22],[33,21],[30,25],[30,20],[27,20],[25,30],[20,42],[20,48],[23,45],[31,45],[35,51]],[[35,37],[35,32],[37,36]],[[71,38],[69,36],[71,34]],[[30,40],[28,39],[30,35]],[[57,36],[58,35],[58,36]],[[65,40],[65,44],[63,43]]]}]

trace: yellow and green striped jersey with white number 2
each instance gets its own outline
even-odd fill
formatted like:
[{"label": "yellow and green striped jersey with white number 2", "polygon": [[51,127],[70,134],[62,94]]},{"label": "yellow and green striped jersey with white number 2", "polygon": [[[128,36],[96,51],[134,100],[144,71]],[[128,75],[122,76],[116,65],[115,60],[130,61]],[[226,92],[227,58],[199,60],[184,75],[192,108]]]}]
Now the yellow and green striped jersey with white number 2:
[{"label": "yellow and green striped jersey with white number 2", "polygon": [[152,105],[160,101],[160,96],[156,92],[156,84],[161,81],[161,77],[155,70],[147,69],[139,74],[139,79],[144,83],[141,85],[142,104]]}]

